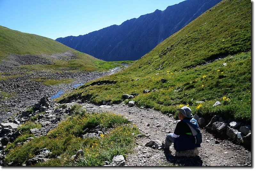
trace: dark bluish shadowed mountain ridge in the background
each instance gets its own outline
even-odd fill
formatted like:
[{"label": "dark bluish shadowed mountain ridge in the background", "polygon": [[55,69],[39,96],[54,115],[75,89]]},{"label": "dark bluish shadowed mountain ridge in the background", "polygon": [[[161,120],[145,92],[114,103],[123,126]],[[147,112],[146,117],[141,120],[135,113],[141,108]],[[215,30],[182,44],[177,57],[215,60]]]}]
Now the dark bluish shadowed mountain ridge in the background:
[{"label": "dark bluish shadowed mountain ridge in the background", "polygon": [[105,61],[137,60],[220,1],[187,0],[164,11],[126,20],[121,25],[86,35],[60,37],[56,41]]}]

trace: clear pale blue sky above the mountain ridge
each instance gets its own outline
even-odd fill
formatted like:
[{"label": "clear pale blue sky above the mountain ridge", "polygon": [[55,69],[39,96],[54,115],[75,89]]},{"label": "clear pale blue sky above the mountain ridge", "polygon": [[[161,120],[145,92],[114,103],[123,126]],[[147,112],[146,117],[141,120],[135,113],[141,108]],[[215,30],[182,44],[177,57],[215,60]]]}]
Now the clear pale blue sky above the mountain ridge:
[{"label": "clear pale blue sky above the mountain ridge", "polygon": [[56,39],[85,35],[185,0],[0,0],[0,25]]}]

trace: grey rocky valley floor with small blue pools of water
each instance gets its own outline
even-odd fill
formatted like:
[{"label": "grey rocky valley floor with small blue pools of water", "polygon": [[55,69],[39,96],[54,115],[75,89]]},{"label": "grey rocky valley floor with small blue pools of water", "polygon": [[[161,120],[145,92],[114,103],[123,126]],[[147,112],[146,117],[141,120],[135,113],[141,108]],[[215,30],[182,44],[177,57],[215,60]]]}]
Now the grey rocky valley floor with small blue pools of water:
[{"label": "grey rocky valley floor with small blue pools of water", "polygon": [[[74,89],[77,84],[84,84],[97,78],[114,74],[120,69],[107,72],[62,72],[49,73],[46,71],[36,71],[24,74],[18,67],[10,68],[0,64],[0,122],[23,110],[30,105],[34,105],[41,97],[52,97],[59,91],[67,92]],[[0,75],[1,76],[1,75]],[[3,79],[6,78],[6,79]],[[47,80],[73,80],[71,83],[46,86],[33,79],[46,78]],[[65,94],[65,93],[64,93]]]}]

